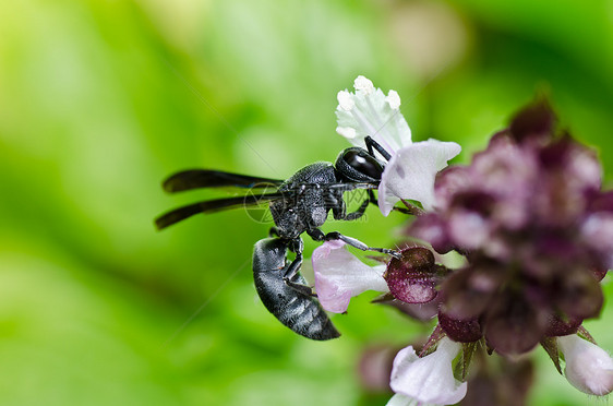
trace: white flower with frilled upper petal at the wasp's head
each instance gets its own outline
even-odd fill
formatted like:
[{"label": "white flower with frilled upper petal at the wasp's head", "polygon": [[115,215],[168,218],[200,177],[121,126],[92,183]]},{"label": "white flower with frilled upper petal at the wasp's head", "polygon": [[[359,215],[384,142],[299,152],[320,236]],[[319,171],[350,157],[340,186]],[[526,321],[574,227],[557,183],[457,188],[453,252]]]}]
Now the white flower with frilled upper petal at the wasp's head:
[{"label": "white flower with frilled upper petal at the wasp's head", "polygon": [[356,93],[338,92],[336,132],[360,147],[365,146],[365,138],[370,135],[392,155],[378,187],[381,212],[387,216],[401,199],[419,201],[425,210],[431,210],[435,204],[436,172],[461,147],[436,140],[413,143],[411,130],[399,110],[398,93],[389,91],[385,96],[364,76],[358,76],[353,87]]}]

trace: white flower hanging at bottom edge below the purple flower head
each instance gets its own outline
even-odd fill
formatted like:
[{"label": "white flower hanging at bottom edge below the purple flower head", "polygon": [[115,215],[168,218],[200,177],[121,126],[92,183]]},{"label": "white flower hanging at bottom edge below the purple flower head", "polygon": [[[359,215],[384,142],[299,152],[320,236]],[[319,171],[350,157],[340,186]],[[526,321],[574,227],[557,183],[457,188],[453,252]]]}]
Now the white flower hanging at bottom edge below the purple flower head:
[{"label": "white flower hanging at bottom edge below the purple flower head", "polygon": [[[466,396],[467,383],[454,378],[452,361],[461,345],[444,337],[432,354],[419,358],[409,346],[394,359],[389,385],[396,393],[387,406],[453,405]],[[412,402],[412,403],[411,403]]]}]

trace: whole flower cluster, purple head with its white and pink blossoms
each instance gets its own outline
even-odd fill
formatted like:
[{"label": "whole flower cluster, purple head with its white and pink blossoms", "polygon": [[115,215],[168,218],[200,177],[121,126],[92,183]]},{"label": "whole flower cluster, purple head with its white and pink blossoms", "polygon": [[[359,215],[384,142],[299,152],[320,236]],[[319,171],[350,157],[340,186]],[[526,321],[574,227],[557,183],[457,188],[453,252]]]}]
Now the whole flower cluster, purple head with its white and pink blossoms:
[{"label": "whole flower cluster, purple head with its white and pink blossoms", "polygon": [[[445,169],[459,145],[412,143],[396,92],[385,96],[363,76],[354,87],[338,94],[337,132],[359,146],[370,135],[389,152],[380,208],[387,215],[398,202],[409,208],[419,202],[424,211],[411,211],[418,216],[408,234],[428,246],[408,244],[370,266],[328,241],[312,261],[328,311],[345,312],[351,297],[376,290],[384,294],[377,301],[437,317],[419,354],[409,346],[396,356],[388,405],[455,404],[467,393],[473,354],[506,358],[538,344],[560,372],[565,362],[578,390],[612,392],[613,360],[581,326],[599,314],[600,280],[613,267],[613,192],[601,190],[596,154],[557,132],[554,114],[539,100],[470,165]],[[449,251],[464,256],[462,267],[437,263]]]}]

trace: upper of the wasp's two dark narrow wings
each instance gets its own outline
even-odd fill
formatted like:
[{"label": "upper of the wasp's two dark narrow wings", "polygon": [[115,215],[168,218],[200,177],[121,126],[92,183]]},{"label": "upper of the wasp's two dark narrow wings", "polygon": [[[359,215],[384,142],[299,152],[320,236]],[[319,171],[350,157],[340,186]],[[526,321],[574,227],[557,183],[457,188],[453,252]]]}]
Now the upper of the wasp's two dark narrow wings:
[{"label": "upper of the wasp's two dark narrow wings", "polygon": [[168,193],[201,188],[266,188],[278,187],[283,183],[279,179],[257,178],[248,175],[224,172],[211,169],[188,169],[177,172],[166,179],[163,188]]}]

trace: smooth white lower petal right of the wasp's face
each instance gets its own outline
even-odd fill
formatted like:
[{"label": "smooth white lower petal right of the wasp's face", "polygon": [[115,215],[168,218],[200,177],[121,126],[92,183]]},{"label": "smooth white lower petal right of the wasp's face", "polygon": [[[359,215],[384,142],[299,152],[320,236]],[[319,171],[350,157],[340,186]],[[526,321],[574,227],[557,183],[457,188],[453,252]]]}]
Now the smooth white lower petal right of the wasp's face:
[{"label": "smooth white lower petal right of the wasp's face", "polygon": [[436,140],[417,142],[398,151],[381,177],[381,213],[387,216],[400,199],[417,200],[425,210],[432,210],[436,174],[460,151],[461,147],[455,142]]}]

